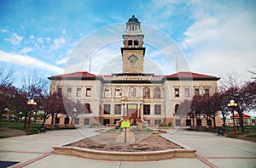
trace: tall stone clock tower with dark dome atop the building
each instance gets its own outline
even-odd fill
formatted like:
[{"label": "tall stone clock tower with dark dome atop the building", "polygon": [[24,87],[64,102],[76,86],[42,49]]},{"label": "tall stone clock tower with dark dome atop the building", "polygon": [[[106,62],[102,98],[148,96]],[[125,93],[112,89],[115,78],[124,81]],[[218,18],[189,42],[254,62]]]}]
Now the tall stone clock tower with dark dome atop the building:
[{"label": "tall stone clock tower with dark dome atop the building", "polygon": [[124,74],[143,74],[145,54],[143,38],[141,23],[132,15],[126,22],[126,29],[123,35],[124,48],[121,48]]}]

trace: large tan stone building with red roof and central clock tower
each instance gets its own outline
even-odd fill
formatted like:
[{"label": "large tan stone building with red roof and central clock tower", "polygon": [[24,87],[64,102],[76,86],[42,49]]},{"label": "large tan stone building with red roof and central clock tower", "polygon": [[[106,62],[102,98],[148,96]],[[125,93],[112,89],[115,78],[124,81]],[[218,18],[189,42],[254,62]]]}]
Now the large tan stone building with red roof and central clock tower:
[{"label": "large tan stone building with red roof and central clock tower", "polygon": [[74,124],[112,126],[121,116],[131,115],[137,124],[159,126],[172,122],[184,126],[186,118],[175,115],[178,104],[194,95],[218,92],[216,76],[188,71],[171,75],[144,73],[144,35],[134,15],[126,22],[122,37],[123,73],[99,76],[78,71],[49,77],[50,92],[62,92],[71,100],[90,107],[91,113],[79,113]]}]

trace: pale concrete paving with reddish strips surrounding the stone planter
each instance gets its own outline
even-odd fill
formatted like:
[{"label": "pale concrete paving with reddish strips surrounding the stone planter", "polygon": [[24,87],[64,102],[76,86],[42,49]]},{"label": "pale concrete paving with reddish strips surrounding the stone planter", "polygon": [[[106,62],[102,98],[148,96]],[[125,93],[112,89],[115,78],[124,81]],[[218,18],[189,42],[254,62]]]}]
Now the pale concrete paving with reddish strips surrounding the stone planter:
[{"label": "pale concrete paving with reddish strips surrounding the stone planter", "polygon": [[127,162],[89,160],[52,153],[53,146],[95,134],[95,129],[81,127],[76,130],[49,131],[37,135],[3,138],[0,139],[0,161],[18,162],[9,166],[16,168],[256,167],[256,143],[218,137],[217,134],[208,132],[188,132],[183,129],[169,130],[166,136],[190,148],[195,148],[197,150],[195,158]]}]

